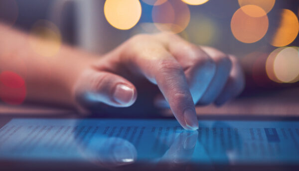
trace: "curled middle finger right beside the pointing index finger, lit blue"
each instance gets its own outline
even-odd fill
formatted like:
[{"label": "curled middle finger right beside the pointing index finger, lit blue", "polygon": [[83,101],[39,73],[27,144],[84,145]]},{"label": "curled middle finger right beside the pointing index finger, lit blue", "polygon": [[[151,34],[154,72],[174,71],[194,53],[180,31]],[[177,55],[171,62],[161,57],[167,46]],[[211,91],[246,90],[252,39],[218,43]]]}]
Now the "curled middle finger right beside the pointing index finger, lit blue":
[{"label": "curled middle finger right beside the pointing index finger, lit blue", "polygon": [[169,51],[182,65],[195,103],[203,96],[215,73],[216,64],[199,46],[176,36],[169,41]]}]

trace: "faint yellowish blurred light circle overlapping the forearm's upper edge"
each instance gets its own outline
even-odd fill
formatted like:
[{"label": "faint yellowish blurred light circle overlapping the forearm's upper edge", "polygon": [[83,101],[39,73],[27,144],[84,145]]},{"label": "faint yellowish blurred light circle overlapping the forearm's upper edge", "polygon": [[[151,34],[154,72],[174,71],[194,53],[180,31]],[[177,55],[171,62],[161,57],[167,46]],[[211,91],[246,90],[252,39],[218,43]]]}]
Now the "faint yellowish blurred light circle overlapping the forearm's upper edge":
[{"label": "faint yellowish blurred light circle overlapping the forearm's upper edge", "polygon": [[60,31],[54,23],[38,20],[30,31],[29,44],[41,56],[54,56],[62,44]]}]

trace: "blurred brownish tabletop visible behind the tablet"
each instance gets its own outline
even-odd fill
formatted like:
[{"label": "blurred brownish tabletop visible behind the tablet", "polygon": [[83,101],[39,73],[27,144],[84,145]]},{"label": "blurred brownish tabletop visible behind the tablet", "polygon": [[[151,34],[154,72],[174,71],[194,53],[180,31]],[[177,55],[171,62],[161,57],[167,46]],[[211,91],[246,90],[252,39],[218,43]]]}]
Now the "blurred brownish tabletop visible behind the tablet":
[{"label": "blurred brownish tabletop visible behind the tablet", "polygon": [[[233,116],[299,116],[299,88],[288,88],[272,92],[259,92],[237,98],[222,107],[209,105],[196,107],[200,115],[233,115]],[[38,106],[7,106],[0,104],[0,116],[72,116],[72,111],[66,109],[55,109]],[[172,116],[170,111],[165,116]]]}]

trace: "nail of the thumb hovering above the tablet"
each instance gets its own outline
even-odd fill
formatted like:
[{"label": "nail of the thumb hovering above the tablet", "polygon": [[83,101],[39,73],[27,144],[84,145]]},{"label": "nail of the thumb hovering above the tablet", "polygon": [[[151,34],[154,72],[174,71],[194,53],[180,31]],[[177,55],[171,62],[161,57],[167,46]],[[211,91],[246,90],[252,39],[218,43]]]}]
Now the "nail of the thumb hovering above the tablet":
[{"label": "nail of the thumb hovering above the tablet", "polygon": [[114,100],[120,104],[128,104],[134,98],[134,90],[124,84],[118,84],[114,91]]}]

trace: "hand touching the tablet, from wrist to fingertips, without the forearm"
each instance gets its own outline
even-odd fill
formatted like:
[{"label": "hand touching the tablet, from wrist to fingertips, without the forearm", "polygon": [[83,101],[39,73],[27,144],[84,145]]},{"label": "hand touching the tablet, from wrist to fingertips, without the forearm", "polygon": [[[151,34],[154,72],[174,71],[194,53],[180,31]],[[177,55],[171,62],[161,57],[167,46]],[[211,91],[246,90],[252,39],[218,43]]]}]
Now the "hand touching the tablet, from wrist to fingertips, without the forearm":
[{"label": "hand touching the tablet, from wrist to fingertips, without the forearm", "polygon": [[[78,78],[73,95],[84,111],[102,103],[129,107],[137,99],[134,83],[144,78],[157,85],[175,118],[187,130],[198,128],[194,103],[221,105],[244,87],[243,72],[235,57],[196,46],[177,35],[159,33],[134,36],[93,63]],[[139,92],[158,96],[145,87]]]}]

